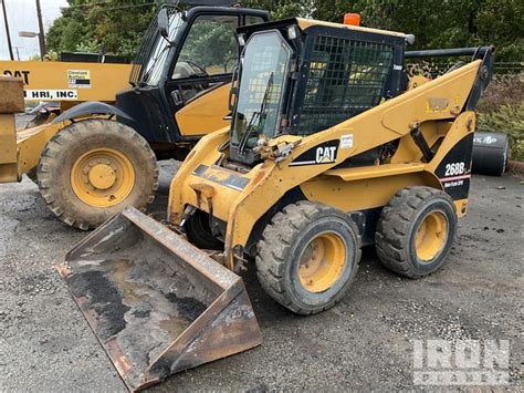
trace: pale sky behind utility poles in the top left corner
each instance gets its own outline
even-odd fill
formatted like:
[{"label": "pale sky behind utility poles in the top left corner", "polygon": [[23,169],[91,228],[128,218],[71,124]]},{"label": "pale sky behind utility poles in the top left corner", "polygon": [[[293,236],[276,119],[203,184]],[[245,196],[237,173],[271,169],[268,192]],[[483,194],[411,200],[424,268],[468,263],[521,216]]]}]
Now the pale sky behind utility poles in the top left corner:
[{"label": "pale sky behind utility poles in the top left corner", "polygon": [[[2,1],[2,0],[0,0]],[[28,39],[18,35],[19,31],[38,31],[39,22],[36,20],[36,3],[34,0],[3,0],[8,14],[9,31],[13,45],[14,59],[17,60],[18,46],[20,60],[28,60],[33,54],[40,54],[39,39]],[[60,8],[67,6],[66,0],[40,0],[42,7],[42,19],[44,29],[49,27],[57,17]],[[9,49],[3,24],[3,13],[0,7],[0,60],[9,60]]]}]

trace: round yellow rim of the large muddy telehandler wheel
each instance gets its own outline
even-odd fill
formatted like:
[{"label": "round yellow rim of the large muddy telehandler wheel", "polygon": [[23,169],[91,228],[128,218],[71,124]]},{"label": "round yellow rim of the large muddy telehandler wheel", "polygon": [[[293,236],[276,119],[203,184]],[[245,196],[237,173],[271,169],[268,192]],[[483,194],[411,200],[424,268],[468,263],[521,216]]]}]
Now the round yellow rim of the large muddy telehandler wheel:
[{"label": "round yellow rim of the large muddy telehandler wheel", "polygon": [[109,207],[125,200],[135,186],[129,158],[112,148],[95,148],[78,157],[71,170],[71,187],[83,203]]}]

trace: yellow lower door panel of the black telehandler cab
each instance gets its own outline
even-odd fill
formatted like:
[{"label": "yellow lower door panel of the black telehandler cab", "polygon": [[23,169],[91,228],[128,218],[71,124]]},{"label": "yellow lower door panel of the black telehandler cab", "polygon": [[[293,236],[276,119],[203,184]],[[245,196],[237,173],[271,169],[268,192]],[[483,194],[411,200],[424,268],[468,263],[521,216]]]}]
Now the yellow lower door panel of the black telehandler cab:
[{"label": "yellow lower door panel of the black telehandler cab", "polygon": [[197,96],[175,114],[178,128],[182,136],[206,135],[212,131],[227,127],[224,120],[231,112],[228,106],[228,96],[231,84],[224,84]]}]

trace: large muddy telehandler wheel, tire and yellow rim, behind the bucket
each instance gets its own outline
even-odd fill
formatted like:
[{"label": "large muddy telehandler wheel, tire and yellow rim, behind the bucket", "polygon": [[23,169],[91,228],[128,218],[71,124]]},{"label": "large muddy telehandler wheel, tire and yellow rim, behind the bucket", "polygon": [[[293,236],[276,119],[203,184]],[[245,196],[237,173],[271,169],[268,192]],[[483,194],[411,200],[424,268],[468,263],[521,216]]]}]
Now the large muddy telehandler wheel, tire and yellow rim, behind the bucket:
[{"label": "large muddy telehandler wheel, tire and yellow rim, behind the bucket", "polygon": [[56,217],[87,230],[127,206],[145,210],[158,188],[158,168],[148,143],[133,128],[86,120],[48,142],[38,184]]}]

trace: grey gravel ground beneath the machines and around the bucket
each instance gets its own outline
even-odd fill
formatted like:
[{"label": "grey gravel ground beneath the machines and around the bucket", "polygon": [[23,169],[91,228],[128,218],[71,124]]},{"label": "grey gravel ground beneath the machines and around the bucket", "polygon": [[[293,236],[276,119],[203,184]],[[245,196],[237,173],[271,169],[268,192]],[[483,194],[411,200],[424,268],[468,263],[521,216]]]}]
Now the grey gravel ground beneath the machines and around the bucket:
[{"label": "grey gravel ground beneath the machines and around the bucket", "polygon": [[[163,163],[151,213],[166,209],[175,169]],[[507,387],[522,391],[523,189],[516,177],[475,177],[444,268],[402,279],[366,249],[347,296],[318,316],[286,312],[249,271],[262,345],[151,391],[409,390],[416,339],[507,339]],[[53,268],[85,232],[57,221],[27,178],[0,185],[0,390],[125,391]]]}]

